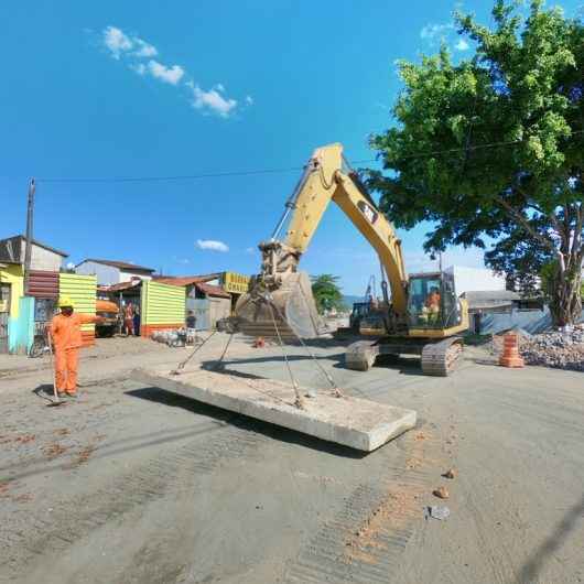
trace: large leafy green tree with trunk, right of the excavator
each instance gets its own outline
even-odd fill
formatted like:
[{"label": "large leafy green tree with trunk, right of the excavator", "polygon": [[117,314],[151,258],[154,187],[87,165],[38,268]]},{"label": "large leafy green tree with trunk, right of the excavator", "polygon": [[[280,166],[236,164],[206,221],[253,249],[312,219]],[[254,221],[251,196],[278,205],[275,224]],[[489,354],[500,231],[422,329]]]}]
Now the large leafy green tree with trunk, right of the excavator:
[{"label": "large leafy green tree with trunk, right of the excavator", "polygon": [[454,63],[443,46],[400,63],[394,123],[371,137],[385,171],[366,171],[367,182],[399,227],[433,224],[428,251],[493,238],[495,268],[558,260],[551,309],[571,323],[584,258],[583,23],[542,0],[526,19],[498,0],[493,18],[455,15],[476,46],[469,60]]}]

